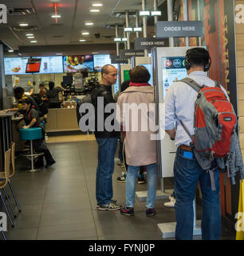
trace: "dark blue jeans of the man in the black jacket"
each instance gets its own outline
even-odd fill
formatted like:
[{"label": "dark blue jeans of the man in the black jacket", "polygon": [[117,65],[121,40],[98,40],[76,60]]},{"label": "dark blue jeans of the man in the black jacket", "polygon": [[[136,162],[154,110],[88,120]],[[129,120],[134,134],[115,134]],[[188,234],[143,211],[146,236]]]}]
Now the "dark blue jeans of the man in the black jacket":
[{"label": "dark blue jeans of the man in the black jacket", "polygon": [[104,205],[112,199],[112,173],[117,138],[96,138],[98,161],[96,168],[96,202]]}]

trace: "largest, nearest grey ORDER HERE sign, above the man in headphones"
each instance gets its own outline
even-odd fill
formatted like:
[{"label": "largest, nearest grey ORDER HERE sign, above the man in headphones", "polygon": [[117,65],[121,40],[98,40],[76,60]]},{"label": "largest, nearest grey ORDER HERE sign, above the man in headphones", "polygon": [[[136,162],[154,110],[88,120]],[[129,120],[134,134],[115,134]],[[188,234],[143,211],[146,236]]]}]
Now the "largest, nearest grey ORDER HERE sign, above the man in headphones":
[{"label": "largest, nearest grey ORDER HERE sign, above the man in headphones", "polygon": [[203,36],[203,22],[157,22],[157,38],[185,38]]}]

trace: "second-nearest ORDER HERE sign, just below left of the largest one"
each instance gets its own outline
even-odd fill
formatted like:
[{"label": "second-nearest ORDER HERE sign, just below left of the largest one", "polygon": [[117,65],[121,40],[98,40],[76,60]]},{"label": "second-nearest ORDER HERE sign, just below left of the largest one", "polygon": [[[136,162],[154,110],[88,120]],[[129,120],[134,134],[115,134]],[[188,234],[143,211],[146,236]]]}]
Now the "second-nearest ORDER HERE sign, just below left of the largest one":
[{"label": "second-nearest ORDER HERE sign, just below left of the largest one", "polygon": [[168,38],[135,38],[134,48],[136,50],[151,50],[152,47],[167,47]]}]

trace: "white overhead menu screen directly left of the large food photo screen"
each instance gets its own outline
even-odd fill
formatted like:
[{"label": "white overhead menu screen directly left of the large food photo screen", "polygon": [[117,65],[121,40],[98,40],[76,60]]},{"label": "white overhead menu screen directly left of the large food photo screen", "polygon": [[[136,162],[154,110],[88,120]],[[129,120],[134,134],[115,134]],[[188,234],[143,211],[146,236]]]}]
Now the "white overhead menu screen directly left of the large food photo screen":
[{"label": "white overhead menu screen directly left of the large food photo screen", "polygon": [[40,74],[64,73],[62,56],[37,57],[41,58]]}]

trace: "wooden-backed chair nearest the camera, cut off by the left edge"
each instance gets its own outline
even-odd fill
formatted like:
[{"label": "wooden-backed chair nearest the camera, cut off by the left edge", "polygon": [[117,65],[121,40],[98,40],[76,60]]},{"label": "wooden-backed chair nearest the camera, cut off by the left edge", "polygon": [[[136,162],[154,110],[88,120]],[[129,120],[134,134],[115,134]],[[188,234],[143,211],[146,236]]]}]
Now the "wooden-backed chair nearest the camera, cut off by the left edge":
[{"label": "wooden-backed chair nearest the camera, cut off by the left edge", "polygon": [[[6,152],[5,152],[4,171],[0,172],[0,189],[4,189],[5,188],[5,186],[8,183],[8,179],[10,177],[10,157],[11,157],[11,150],[6,150]],[[1,190],[0,190],[0,198],[2,200],[2,205],[3,205],[4,209],[6,210],[6,214],[7,214],[8,218],[9,218],[9,220],[10,220],[11,226],[14,227],[14,222],[12,221],[12,218],[10,217],[9,210],[7,209],[6,203],[4,202],[4,199],[2,197]],[[3,236],[3,238],[5,238],[4,233],[2,233],[2,236]]]}]

